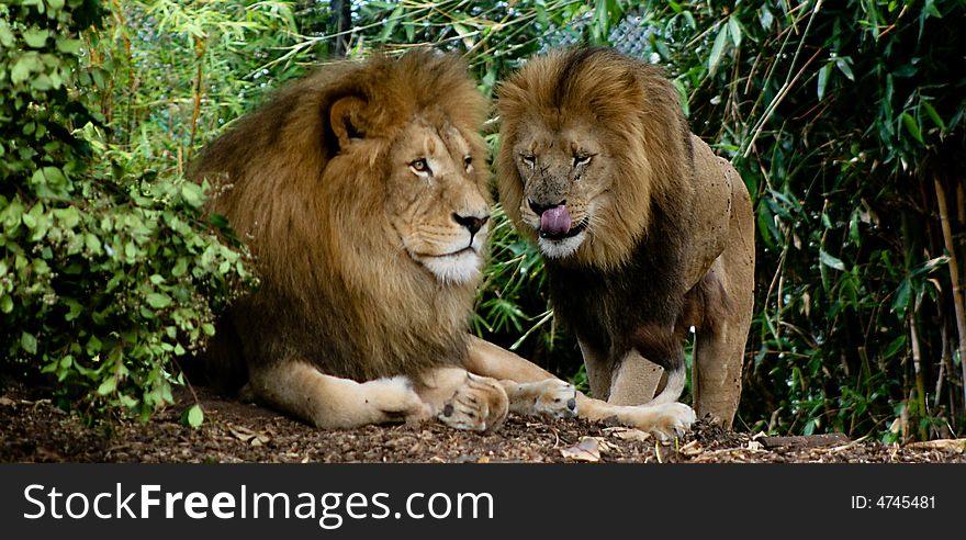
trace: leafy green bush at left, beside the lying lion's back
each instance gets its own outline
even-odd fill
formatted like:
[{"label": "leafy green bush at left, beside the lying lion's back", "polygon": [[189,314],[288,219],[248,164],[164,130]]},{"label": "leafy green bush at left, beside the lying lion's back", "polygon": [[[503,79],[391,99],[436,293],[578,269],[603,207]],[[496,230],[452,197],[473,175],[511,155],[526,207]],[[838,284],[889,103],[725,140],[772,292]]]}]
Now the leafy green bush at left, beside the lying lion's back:
[{"label": "leafy green bush at left, beside the lying lion's back", "polygon": [[101,19],[91,0],[0,5],[0,365],[146,418],[252,278],[204,188],[120,159],[88,106],[110,93],[83,34]]}]

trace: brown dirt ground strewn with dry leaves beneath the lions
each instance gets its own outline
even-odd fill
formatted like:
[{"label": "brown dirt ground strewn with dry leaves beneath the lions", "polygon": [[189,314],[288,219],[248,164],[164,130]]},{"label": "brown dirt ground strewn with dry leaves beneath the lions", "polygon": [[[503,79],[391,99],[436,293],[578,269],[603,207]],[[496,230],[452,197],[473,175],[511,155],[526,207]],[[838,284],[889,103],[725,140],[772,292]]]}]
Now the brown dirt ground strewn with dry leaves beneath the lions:
[{"label": "brown dirt ground strewn with dry leaves beneath the lions", "polygon": [[[183,389],[176,393],[177,405],[147,424],[88,427],[37,391],[8,386],[0,393],[0,462],[966,462],[962,440],[922,448],[844,436],[773,439],[704,420],[683,439],[664,443],[606,423],[515,416],[497,432],[483,435],[430,423],[319,430],[195,390],[205,412],[200,428],[180,423],[194,403]],[[796,446],[802,442],[812,447]]]}]

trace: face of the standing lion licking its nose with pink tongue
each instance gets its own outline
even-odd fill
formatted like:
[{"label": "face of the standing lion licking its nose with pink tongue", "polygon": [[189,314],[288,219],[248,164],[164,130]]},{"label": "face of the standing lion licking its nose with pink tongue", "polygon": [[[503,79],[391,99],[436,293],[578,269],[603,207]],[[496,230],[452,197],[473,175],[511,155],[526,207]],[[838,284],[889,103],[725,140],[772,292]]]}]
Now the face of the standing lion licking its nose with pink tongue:
[{"label": "face of the standing lion licking its nose with pink tongue", "polygon": [[589,124],[550,130],[533,119],[523,125],[513,147],[523,181],[520,220],[537,233],[544,255],[569,257],[606,220],[610,155]]}]

